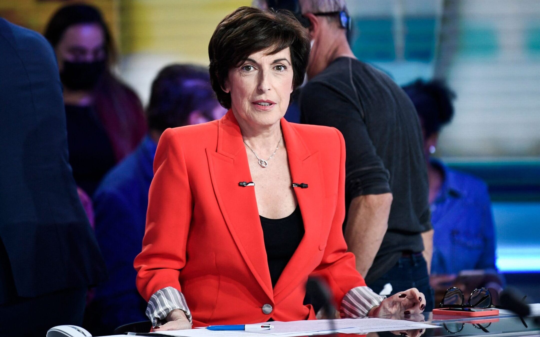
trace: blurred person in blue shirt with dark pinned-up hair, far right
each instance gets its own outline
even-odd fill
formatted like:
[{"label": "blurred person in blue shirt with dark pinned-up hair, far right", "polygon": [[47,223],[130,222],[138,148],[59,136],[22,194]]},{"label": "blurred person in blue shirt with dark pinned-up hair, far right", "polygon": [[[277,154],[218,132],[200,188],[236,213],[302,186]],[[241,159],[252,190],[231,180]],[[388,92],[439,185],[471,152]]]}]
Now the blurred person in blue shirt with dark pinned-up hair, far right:
[{"label": "blurred person in blue shirt with dark pinned-up hair, far right", "polygon": [[462,288],[465,295],[477,287],[489,287],[496,296],[502,281],[495,266],[495,230],[487,185],[431,157],[441,128],[454,116],[455,94],[438,80],[416,80],[403,89],[422,125],[435,230],[430,282],[437,295],[436,304],[451,286]]}]

